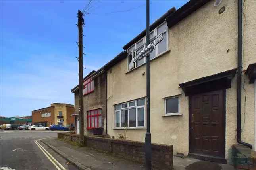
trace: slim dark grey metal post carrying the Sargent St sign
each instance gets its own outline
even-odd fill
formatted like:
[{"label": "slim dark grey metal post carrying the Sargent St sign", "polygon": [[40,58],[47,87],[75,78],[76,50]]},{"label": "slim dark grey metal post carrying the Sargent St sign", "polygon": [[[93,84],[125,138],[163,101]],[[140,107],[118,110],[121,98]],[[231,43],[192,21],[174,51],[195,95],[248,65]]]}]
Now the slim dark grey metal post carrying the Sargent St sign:
[{"label": "slim dark grey metal post carrying the Sargent St sign", "polygon": [[[149,45],[149,0],[146,0],[146,43]],[[146,169],[151,170],[152,160],[152,146],[151,146],[151,133],[150,133],[150,60],[149,54],[146,57],[146,99],[147,99],[147,131],[145,137],[146,148]]]}]

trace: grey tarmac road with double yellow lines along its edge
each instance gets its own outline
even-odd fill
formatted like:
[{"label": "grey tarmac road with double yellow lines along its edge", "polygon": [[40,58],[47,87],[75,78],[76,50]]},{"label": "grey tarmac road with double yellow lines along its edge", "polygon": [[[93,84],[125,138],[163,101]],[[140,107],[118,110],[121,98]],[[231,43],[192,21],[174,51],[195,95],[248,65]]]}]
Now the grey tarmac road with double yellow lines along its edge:
[{"label": "grey tarmac road with double yellow lines along its edge", "polygon": [[0,170],[77,170],[38,140],[57,132],[0,130]]}]

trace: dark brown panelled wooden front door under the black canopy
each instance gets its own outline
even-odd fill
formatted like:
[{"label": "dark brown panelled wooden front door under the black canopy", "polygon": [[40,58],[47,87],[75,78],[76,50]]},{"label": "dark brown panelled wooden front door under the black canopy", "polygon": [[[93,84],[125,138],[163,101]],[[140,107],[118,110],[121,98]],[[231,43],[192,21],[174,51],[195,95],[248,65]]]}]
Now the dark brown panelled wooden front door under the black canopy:
[{"label": "dark brown panelled wooden front door under the black canopy", "polygon": [[190,153],[225,156],[223,99],[223,90],[190,96]]}]

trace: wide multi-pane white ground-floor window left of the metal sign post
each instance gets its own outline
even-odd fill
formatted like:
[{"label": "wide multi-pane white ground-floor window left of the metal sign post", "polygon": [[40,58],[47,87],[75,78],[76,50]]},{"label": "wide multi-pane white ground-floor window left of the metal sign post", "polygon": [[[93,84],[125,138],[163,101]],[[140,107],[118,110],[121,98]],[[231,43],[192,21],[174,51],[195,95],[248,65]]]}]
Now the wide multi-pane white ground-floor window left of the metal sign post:
[{"label": "wide multi-pane white ground-floor window left of the metal sign post", "polygon": [[115,105],[115,128],[144,128],[145,98]]}]

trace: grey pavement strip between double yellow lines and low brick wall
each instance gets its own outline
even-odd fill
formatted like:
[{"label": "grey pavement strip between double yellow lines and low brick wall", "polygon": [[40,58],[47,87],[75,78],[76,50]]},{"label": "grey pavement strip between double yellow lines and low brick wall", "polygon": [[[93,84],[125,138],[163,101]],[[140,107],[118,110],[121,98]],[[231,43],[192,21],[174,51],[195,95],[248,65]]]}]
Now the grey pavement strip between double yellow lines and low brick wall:
[{"label": "grey pavement strip between double yellow lines and low brick wall", "polygon": [[88,170],[144,170],[144,165],[131,162],[125,158],[114,157],[106,152],[91,147],[79,147],[58,138],[42,140],[68,161],[76,163],[79,169]]}]

